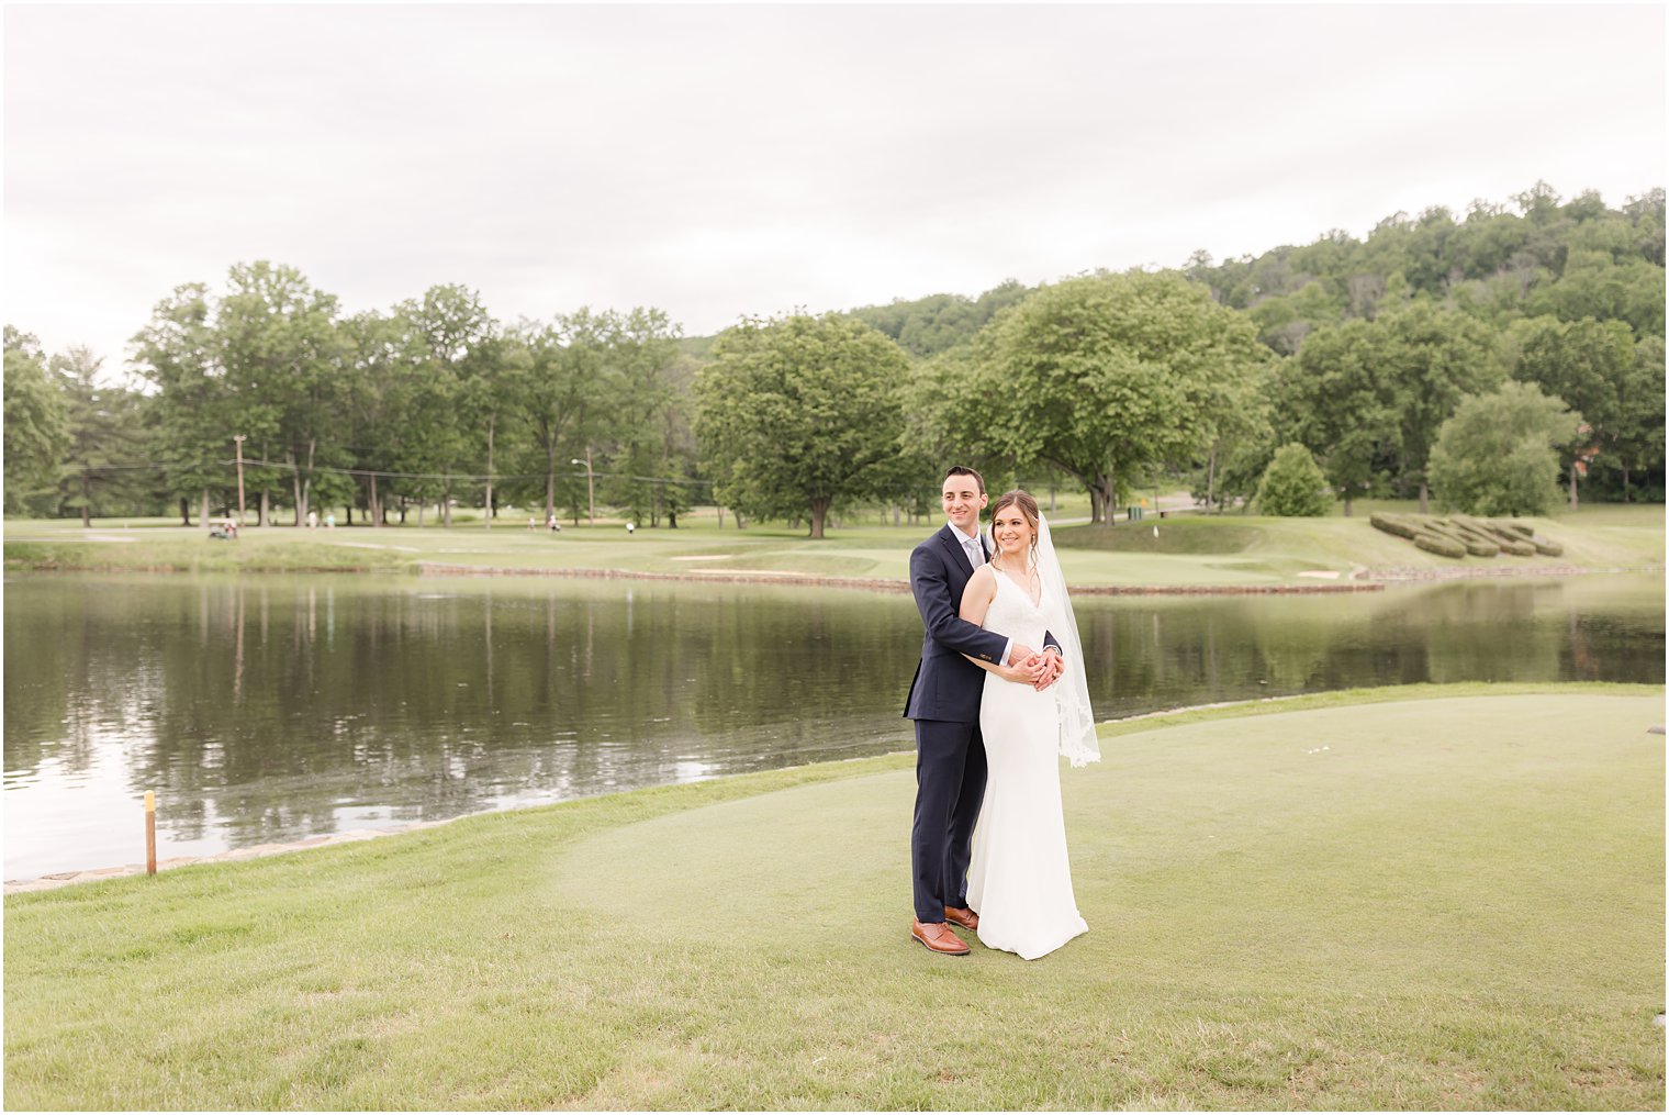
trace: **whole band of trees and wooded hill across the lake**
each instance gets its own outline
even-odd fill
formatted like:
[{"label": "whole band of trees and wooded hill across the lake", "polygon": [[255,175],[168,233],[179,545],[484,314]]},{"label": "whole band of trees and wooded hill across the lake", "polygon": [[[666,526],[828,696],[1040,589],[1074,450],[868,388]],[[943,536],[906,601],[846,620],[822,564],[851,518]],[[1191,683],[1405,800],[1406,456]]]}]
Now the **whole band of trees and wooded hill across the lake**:
[{"label": "whole band of trees and wooded hill across the lake", "polygon": [[5,506],[172,502],[189,521],[227,506],[240,451],[262,521],[277,504],[294,522],[322,504],[372,524],[502,502],[577,517],[589,479],[651,526],[718,502],[821,536],[831,509],[930,512],[958,459],[1078,484],[1112,522],[1157,479],[1245,506],[1283,446],[1347,512],[1514,486],[1535,511],[1556,477],[1572,501],[1579,481],[1662,501],[1664,192],[1512,200],[713,339],[646,307],[502,325],[461,285],[350,315],[290,267],[240,264],[157,304],[137,387],[7,327]]}]

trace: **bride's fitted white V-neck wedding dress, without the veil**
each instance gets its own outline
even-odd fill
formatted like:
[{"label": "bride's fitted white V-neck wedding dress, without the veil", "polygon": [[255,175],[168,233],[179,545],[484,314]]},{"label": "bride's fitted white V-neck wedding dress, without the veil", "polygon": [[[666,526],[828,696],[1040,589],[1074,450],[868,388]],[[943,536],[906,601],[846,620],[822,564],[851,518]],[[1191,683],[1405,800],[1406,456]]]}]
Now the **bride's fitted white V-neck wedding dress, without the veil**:
[{"label": "bride's fitted white V-neck wedding dress, without the veil", "polygon": [[[1025,646],[1071,619],[1043,588],[1036,608],[1003,571],[985,628]],[[986,673],[980,734],[988,764],[985,803],[973,831],[968,906],[980,915],[980,941],[1036,960],[1088,931],[1071,895],[1066,821],[1060,806],[1060,708],[1056,689],[1003,681]]]}]

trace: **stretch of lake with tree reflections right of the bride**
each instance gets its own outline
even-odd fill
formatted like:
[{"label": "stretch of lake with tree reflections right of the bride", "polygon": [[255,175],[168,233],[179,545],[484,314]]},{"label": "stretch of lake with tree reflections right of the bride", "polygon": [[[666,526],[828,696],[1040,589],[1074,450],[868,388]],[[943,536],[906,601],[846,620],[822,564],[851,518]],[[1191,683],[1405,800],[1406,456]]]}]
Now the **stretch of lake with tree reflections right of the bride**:
[{"label": "stretch of lake with tree reflections right of the bride", "polygon": [[1078,623],[1102,718],[1350,686],[1664,676],[1662,591],[1639,579],[1087,598]]}]

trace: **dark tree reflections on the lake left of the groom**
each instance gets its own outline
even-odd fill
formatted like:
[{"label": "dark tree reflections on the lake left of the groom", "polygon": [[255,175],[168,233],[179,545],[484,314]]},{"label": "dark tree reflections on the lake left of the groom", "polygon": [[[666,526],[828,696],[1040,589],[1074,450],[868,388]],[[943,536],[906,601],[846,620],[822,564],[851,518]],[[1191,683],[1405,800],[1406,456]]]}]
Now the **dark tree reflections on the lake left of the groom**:
[{"label": "dark tree reflections on the lake left of the groom", "polygon": [[456,816],[905,734],[875,706],[903,703],[908,599],[546,588],[32,584],[7,614],[7,706],[33,709],[7,721],[7,771],[85,771],[85,718],[120,718],[132,786],[165,790],[172,836],[252,843],[372,806]]}]

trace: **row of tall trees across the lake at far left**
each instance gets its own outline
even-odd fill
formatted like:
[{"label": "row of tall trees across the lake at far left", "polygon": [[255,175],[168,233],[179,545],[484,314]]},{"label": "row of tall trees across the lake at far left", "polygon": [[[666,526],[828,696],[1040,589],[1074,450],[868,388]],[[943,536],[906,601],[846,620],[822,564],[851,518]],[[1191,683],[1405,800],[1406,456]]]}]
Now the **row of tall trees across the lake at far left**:
[{"label": "row of tall trees across the lake at far left", "polygon": [[594,489],[676,526],[701,487],[696,361],[656,309],[506,327],[476,292],[436,285],[345,315],[294,267],[240,264],[219,294],[189,284],[159,302],[132,367],[142,389],[102,386],[90,352],[47,357],[7,327],[8,512],[175,502],[190,522],[235,497],[235,456],[262,524],[280,502],[292,522],[335,506],[372,526],[434,507],[449,524],[454,504],[504,502],[577,517]]}]

